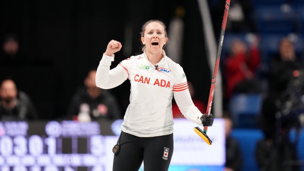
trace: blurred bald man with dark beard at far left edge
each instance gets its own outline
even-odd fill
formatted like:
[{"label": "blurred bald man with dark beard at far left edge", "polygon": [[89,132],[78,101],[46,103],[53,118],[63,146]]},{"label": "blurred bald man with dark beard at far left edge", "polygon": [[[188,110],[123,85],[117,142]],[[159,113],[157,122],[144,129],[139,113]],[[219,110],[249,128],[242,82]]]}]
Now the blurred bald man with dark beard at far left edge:
[{"label": "blurred bald man with dark beard at far left edge", "polygon": [[31,99],[18,91],[11,79],[4,79],[0,87],[0,119],[2,121],[19,121],[38,119]]}]

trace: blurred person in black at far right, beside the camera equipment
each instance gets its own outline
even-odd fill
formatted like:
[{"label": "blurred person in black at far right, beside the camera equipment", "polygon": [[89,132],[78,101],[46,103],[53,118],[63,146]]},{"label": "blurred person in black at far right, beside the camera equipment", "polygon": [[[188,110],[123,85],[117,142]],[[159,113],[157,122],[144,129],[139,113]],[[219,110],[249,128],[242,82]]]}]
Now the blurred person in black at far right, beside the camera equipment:
[{"label": "blurred person in black at far right, beside the camera equipment", "polygon": [[[276,133],[276,113],[280,111],[278,102],[293,77],[293,72],[304,69],[302,61],[296,57],[295,47],[288,38],[279,43],[279,54],[270,62],[269,92],[263,99],[259,115],[259,124],[267,138],[273,138]],[[283,125],[284,126],[284,125]],[[286,125],[287,126],[287,125]]]}]

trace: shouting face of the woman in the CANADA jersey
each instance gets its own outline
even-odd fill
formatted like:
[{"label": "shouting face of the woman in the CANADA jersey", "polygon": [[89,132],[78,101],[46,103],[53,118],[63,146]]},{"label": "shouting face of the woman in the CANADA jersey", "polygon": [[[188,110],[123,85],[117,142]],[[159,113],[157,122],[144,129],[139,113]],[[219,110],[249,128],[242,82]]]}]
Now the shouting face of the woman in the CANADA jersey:
[{"label": "shouting face of the woman in the CANADA jersey", "polygon": [[163,48],[168,38],[165,36],[164,27],[157,22],[152,22],[146,26],[141,41],[146,45],[147,50],[159,50]]}]

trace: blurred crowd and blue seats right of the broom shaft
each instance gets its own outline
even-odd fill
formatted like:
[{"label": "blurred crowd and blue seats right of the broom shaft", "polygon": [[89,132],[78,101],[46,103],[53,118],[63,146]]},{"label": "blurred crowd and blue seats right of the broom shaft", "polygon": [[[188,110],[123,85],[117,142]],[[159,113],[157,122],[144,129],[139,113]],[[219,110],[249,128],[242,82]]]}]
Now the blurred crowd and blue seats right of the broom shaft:
[{"label": "blurred crowd and blue seats right of the broom shaft", "polygon": [[[210,1],[217,37],[225,2]],[[230,1],[221,55],[223,110],[234,128],[263,133],[253,157],[260,171],[303,168],[299,138],[290,139],[290,132],[299,137],[304,125],[303,5],[301,0]]]}]

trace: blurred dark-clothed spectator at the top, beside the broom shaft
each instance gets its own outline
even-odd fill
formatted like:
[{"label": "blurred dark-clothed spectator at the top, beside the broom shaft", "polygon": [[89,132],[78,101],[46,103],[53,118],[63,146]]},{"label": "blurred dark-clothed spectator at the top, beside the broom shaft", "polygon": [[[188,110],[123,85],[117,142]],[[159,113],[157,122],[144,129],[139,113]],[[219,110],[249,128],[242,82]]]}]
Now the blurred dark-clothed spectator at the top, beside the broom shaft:
[{"label": "blurred dark-clothed spectator at the top, beside the broom shaft", "polygon": [[[218,36],[221,31],[226,0],[218,0],[213,10],[214,29]],[[250,0],[230,0],[226,31],[228,32],[256,32],[253,21],[253,4]]]}]

